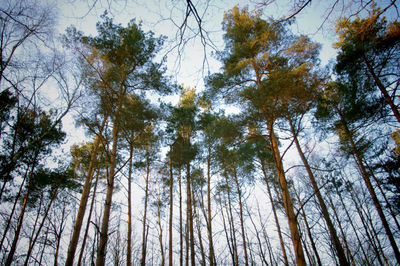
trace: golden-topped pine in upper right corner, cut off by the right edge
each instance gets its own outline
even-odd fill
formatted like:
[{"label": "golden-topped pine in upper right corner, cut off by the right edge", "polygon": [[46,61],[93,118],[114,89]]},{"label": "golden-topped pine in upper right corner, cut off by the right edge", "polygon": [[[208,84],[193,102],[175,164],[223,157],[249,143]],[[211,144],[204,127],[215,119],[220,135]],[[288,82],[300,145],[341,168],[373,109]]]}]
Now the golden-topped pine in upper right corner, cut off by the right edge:
[{"label": "golden-topped pine in upper right corner, cut off by the right edge", "polygon": [[354,89],[376,86],[400,123],[396,96],[400,85],[400,24],[397,21],[387,23],[385,18],[379,17],[379,11],[373,10],[364,19],[357,17],[353,21],[338,22],[339,41],[335,46],[340,50],[336,71],[357,82],[359,87]]}]

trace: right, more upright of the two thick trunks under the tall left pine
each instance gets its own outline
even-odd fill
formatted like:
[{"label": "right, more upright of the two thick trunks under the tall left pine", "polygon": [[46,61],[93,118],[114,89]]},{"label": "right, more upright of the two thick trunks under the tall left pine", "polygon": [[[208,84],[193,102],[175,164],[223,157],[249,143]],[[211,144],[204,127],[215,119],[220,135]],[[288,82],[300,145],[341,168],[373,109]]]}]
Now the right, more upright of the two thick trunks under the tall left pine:
[{"label": "right, more upright of the two thick trunks under the tall left pine", "polygon": [[[119,111],[121,108],[121,103],[117,109],[115,114],[116,119],[118,119]],[[106,260],[106,252],[107,252],[107,241],[108,241],[108,225],[110,222],[110,214],[111,214],[111,204],[112,204],[112,196],[114,191],[114,180],[115,180],[115,168],[117,163],[117,145],[118,145],[118,133],[119,126],[117,121],[113,123],[112,129],[112,151],[110,157],[110,170],[109,175],[107,176],[107,193],[106,199],[104,203],[103,210],[103,220],[101,223],[101,231],[100,231],[100,244],[97,250],[97,258],[96,258],[96,266],[104,266]]]}]

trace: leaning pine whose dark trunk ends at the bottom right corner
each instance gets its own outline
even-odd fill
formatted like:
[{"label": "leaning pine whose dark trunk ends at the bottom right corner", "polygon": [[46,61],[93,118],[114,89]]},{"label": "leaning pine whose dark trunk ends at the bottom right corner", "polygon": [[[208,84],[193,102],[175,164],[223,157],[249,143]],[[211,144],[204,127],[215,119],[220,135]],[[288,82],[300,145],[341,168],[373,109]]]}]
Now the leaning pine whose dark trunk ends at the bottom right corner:
[{"label": "leaning pine whose dark trunk ends at the bottom right corner", "polygon": [[319,99],[316,117],[320,121],[331,123],[327,128],[336,132],[341,149],[354,158],[389,238],[396,261],[399,262],[399,249],[370,180],[372,173],[368,171],[364,160],[364,155],[371,144],[359,131],[368,121],[380,117],[382,101],[377,96],[371,96],[368,91],[355,89],[358,86],[359,83],[346,80],[330,83]]}]

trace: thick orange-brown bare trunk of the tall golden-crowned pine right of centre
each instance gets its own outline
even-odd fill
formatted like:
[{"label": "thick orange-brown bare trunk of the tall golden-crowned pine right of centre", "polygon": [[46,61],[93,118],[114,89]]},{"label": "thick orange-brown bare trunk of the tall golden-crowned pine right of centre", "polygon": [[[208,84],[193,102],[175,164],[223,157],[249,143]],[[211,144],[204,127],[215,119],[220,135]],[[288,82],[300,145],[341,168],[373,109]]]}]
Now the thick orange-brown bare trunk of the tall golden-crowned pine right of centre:
[{"label": "thick orange-brown bare trunk of the tall golden-crowned pine right of centre", "polygon": [[274,162],[276,171],[278,174],[279,185],[282,190],[283,205],[288,216],[289,229],[292,238],[294,253],[296,256],[296,263],[298,266],[306,266],[306,260],[304,257],[303,247],[301,244],[301,237],[299,229],[297,228],[297,218],[294,212],[292,199],[290,198],[289,187],[285,178],[285,172],[282,165],[282,159],[278,148],[278,141],[275,136],[273,129],[273,123],[267,120],[267,127],[269,132],[269,138],[271,140],[272,153],[274,156]]}]

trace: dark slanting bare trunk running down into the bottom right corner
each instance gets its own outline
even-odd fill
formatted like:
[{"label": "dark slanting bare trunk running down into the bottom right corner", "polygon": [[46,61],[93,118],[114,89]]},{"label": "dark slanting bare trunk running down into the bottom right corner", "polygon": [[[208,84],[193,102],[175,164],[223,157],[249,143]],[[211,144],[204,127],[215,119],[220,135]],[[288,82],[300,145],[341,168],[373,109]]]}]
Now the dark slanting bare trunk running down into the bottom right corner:
[{"label": "dark slanting bare trunk running down into the bottom right corner", "polygon": [[348,137],[348,141],[349,141],[349,143],[350,143],[350,145],[351,145],[351,147],[353,149],[353,154],[355,156],[357,165],[358,165],[358,167],[360,169],[361,176],[364,179],[365,185],[367,186],[368,192],[371,195],[372,201],[373,201],[373,203],[375,205],[375,208],[376,208],[376,210],[378,212],[379,218],[382,221],[383,228],[385,229],[386,235],[389,238],[389,242],[390,242],[390,245],[392,246],[394,255],[396,257],[396,261],[397,261],[398,264],[400,264],[400,251],[399,251],[399,248],[397,247],[397,243],[396,243],[396,240],[394,239],[392,230],[389,227],[389,223],[387,222],[385,214],[383,213],[382,206],[381,206],[381,204],[380,204],[380,202],[378,200],[378,197],[376,196],[376,193],[375,193],[374,187],[372,186],[371,180],[369,179],[369,174],[367,172],[367,169],[364,166],[361,154],[358,151],[358,148],[357,148],[356,144],[354,143],[353,136],[352,136],[349,128],[347,127],[346,121],[344,121],[343,119],[342,119],[342,124],[344,126],[346,135]]}]

